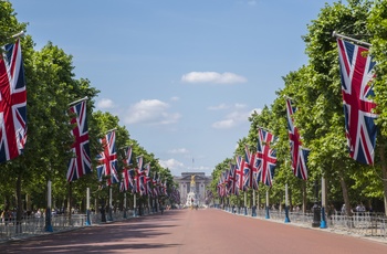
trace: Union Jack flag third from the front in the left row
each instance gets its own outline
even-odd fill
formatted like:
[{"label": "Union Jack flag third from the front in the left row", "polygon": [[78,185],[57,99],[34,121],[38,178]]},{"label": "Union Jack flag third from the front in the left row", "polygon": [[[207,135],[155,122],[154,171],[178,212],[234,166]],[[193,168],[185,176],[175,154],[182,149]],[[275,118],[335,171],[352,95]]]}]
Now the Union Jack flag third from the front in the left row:
[{"label": "Union Jack flag third from the front in the left row", "polygon": [[100,166],[97,166],[98,179],[102,181],[102,177],[111,177],[107,179],[107,186],[112,183],[118,183],[117,173],[117,152],[115,149],[116,135],[112,130],[103,139],[100,139],[104,147],[104,150],[97,156]]}]

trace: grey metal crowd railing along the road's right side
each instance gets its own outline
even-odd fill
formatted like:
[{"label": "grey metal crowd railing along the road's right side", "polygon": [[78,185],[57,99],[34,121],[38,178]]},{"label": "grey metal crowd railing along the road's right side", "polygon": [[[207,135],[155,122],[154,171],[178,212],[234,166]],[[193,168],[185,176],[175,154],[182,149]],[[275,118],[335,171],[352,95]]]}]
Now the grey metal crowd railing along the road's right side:
[{"label": "grey metal crowd railing along the road's right side", "polygon": [[[247,209],[247,212],[244,211],[244,208],[238,207],[224,207],[223,210],[238,215],[252,216],[252,214],[254,214],[252,218],[268,219],[268,214],[264,209],[259,209],[255,211],[255,213],[250,208]],[[289,212],[291,223],[304,226],[312,226],[313,215],[313,212]],[[284,222],[285,211],[269,210],[268,220]],[[335,212],[330,216],[325,214],[325,220],[326,227],[334,231],[387,240],[387,218],[381,213],[355,212],[352,216],[348,216],[339,212]]]}]

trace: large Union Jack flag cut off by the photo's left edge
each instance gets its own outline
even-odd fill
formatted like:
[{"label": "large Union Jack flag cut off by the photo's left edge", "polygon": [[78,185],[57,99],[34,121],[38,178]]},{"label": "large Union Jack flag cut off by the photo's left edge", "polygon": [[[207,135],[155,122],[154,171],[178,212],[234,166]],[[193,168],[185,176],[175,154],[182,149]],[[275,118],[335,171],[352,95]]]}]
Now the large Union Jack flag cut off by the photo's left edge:
[{"label": "large Union Jack flag cut off by the photo's left edge", "polygon": [[14,159],[27,140],[27,91],[20,41],[0,57],[0,162]]}]

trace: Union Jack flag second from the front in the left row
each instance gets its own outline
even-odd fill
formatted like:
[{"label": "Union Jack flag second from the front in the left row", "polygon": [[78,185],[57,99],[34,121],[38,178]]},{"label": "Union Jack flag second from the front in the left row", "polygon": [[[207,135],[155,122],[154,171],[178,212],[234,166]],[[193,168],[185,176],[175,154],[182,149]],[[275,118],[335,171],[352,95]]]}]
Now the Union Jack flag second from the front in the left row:
[{"label": "Union Jack flag second from the front in the left row", "polygon": [[92,159],[88,147],[86,102],[83,100],[72,106],[69,112],[74,115],[71,124],[75,125],[71,131],[75,139],[72,145],[72,152],[75,157],[71,158],[67,167],[67,182],[72,182],[92,172]]}]

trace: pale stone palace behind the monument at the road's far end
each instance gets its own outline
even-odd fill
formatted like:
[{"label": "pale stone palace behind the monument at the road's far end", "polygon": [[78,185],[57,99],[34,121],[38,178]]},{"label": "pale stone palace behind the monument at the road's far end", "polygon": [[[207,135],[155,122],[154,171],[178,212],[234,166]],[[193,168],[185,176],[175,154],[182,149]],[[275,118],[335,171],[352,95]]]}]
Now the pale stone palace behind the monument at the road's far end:
[{"label": "pale stone palace behind the monument at the road's far end", "polygon": [[205,172],[182,172],[181,177],[174,177],[174,181],[179,183],[180,202],[187,202],[187,195],[191,189],[191,176],[195,174],[195,192],[199,199],[199,204],[206,204],[207,187],[211,183],[212,177],[206,176]]}]

